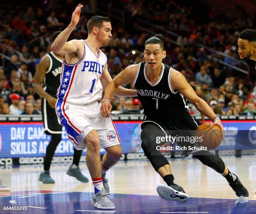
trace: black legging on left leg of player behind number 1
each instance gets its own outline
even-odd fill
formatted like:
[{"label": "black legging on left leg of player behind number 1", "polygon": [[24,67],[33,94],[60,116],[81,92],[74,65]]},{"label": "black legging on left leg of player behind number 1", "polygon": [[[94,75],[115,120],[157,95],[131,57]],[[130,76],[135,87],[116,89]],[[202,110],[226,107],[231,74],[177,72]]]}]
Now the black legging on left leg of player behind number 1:
[{"label": "black legging on left leg of player behind number 1", "polygon": [[50,169],[51,161],[54,156],[55,150],[61,141],[61,134],[52,134],[51,141],[49,142],[46,148],[46,154],[44,157],[44,170],[47,171]]}]

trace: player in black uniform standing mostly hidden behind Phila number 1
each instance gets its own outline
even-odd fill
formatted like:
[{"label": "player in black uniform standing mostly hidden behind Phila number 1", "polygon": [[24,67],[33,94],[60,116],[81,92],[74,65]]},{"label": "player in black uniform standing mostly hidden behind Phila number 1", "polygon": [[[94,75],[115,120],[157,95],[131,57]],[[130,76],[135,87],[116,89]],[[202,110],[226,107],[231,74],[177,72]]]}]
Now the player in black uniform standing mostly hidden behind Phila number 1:
[{"label": "player in black uniform standing mostly hidden behind Phila number 1", "polygon": [[[61,33],[57,31],[52,35],[52,41]],[[50,165],[55,150],[61,141],[62,126],[59,125],[55,112],[56,92],[60,84],[62,56],[53,52],[45,55],[39,62],[34,76],[34,89],[42,97],[42,116],[44,121],[44,132],[51,135],[51,141],[46,148],[44,157],[44,172],[39,176],[39,181],[45,184],[55,183],[50,176]],[[41,84],[44,82],[45,88]],[[74,176],[77,180],[88,182],[89,180],[81,173],[79,161],[82,150],[74,149],[73,164],[69,167],[67,174]]]}]

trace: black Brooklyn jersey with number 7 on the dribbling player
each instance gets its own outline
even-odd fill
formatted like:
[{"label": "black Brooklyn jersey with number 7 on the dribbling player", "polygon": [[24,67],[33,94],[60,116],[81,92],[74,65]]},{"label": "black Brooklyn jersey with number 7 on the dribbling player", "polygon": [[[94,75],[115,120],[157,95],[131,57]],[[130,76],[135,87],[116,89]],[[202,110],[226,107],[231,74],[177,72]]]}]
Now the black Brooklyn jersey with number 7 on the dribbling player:
[{"label": "black Brooklyn jersey with number 7 on the dribbling player", "polygon": [[167,118],[187,111],[188,106],[183,95],[172,89],[170,82],[172,70],[172,67],[162,63],[160,78],[152,84],[146,76],[146,63],[139,63],[133,86],[138,91],[138,98],[146,116]]}]

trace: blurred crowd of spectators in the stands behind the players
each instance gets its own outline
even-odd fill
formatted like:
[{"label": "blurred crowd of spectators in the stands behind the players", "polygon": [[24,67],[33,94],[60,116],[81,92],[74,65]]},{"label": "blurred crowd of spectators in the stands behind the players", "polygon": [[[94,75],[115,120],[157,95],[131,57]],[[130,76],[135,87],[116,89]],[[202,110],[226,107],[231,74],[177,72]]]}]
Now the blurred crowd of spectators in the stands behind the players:
[{"label": "blurred crowd of spectators in the stands behind the players", "polygon": [[[10,57],[10,61],[3,57],[0,60],[0,66],[4,65],[0,67],[0,114],[41,114],[41,99],[33,89],[33,75],[40,59],[50,51],[51,34],[66,28],[77,6],[74,0],[61,5],[58,0],[44,3],[40,6],[34,3],[34,7],[0,7],[0,15],[4,17],[0,20],[0,53]],[[86,24],[95,13],[92,13],[91,5],[81,3],[84,8],[69,39],[87,38]],[[123,0],[118,4],[106,5],[113,6],[123,11],[126,25],[115,25],[113,20],[110,44],[101,48],[108,56],[108,70],[112,77],[128,65],[143,61],[144,42],[152,34],[139,28],[141,19],[157,25],[158,29],[171,30],[180,35],[175,39],[179,45],[174,45],[174,38],[164,34],[167,53],[164,63],[179,70],[216,114],[256,115],[255,64],[249,64],[252,65],[251,72],[246,75],[220,63],[223,61],[241,66],[236,45],[238,33],[255,26],[255,20],[247,17],[243,8],[238,8],[238,18],[234,18],[216,8],[198,13],[200,8],[185,6],[176,0],[160,0],[158,3]],[[162,33],[158,29],[154,31]],[[209,52],[209,49],[198,44],[233,58]],[[133,88],[129,84],[125,87]],[[137,98],[113,96],[111,103],[116,112],[143,112]],[[200,115],[192,103],[189,106],[192,115]]]}]

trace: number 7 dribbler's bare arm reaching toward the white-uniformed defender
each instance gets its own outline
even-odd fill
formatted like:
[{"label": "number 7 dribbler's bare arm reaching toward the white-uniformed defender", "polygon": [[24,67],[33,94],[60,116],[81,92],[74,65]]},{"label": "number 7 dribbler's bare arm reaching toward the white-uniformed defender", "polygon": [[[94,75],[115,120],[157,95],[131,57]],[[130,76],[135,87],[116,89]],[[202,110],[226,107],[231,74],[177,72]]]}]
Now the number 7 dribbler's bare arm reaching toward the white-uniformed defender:
[{"label": "number 7 dribbler's bare arm reaching toward the white-uniformed defender", "polygon": [[[126,67],[121,73],[119,73],[115,78],[108,83],[105,89],[104,97],[101,104],[101,114],[103,117],[110,117],[110,112],[112,105],[110,104],[110,98],[118,90],[119,86],[123,86],[126,83],[132,83],[137,71],[138,65],[130,65]],[[136,91],[136,90],[135,90]]]}]

